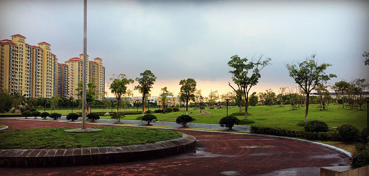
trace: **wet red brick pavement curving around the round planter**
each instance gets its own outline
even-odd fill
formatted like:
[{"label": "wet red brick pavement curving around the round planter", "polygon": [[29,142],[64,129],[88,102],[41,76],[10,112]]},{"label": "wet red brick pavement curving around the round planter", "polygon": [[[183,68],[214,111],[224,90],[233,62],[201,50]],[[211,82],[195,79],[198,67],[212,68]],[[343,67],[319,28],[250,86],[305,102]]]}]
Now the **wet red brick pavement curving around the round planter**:
[{"label": "wet red brick pavement curving around the round planter", "polygon": [[[9,126],[9,130],[80,126],[13,119],[2,119],[1,124]],[[0,168],[0,175],[220,175],[221,171],[228,170],[242,175],[283,175],[288,173],[286,170],[293,175],[319,175],[320,167],[337,166],[347,161],[335,151],[303,142],[241,134],[177,131],[197,138],[196,151],[155,160],[106,165]]]}]

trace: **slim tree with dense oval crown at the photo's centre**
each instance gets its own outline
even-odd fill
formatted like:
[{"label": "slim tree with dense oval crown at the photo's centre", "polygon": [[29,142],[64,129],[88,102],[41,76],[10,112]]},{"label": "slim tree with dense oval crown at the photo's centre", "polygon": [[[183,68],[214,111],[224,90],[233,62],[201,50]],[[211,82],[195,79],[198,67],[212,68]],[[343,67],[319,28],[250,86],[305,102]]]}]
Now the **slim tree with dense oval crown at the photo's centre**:
[{"label": "slim tree with dense oval crown at the photo's centre", "polygon": [[186,101],[186,115],[188,115],[188,101],[195,101],[194,92],[196,91],[196,81],[192,78],[182,79],[180,80],[179,85],[182,85],[180,92],[181,96]]}]

